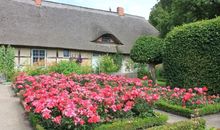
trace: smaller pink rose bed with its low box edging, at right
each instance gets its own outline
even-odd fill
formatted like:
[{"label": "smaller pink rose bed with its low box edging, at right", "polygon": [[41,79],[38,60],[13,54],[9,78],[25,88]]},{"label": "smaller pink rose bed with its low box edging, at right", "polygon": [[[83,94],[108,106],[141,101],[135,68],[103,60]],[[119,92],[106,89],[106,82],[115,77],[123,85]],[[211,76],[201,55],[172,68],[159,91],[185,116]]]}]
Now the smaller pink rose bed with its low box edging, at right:
[{"label": "smaller pink rose bed with its low box edging, at right", "polygon": [[206,87],[196,87],[188,90],[156,87],[152,91],[161,97],[160,101],[155,103],[157,109],[160,110],[189,118],[220,112],[219,95],[207,95],[208,89]]}]

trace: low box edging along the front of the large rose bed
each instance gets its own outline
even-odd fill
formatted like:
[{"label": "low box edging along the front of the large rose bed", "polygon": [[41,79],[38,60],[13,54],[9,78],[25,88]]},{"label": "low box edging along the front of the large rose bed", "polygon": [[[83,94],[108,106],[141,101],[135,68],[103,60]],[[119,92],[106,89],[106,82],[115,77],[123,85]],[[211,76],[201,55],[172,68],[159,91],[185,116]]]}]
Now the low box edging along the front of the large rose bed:
[{"label": "low box edging along the front of the large rose bed", "polygon": [[[34,113],[28,113],[29,120],[31,125],[34,127],[34,130],[46,130],[43,126],[40,125],[40,121],[36,117]],[[164,125],[168,120],[167,115],[163,115],[161,113],[155,113],[155,117],[149,118],[130,118],[130,119],[122,119],[117,120],[112,123],[100,124],[95,127],[94,130],[136,130],[136,129],[144,129],[150,128],[153,126]]]}]

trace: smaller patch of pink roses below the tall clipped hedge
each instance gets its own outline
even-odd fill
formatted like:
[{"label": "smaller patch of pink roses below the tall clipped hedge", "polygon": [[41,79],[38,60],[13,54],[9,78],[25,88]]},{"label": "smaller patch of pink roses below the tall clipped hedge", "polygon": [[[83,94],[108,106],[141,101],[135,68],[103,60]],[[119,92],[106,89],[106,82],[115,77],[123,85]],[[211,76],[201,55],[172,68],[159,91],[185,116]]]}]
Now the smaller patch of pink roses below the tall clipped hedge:
[{"label": "smaller patch of pink roses below the tall clipped hedge", "polygon": [[207,95],[207,87],[202,88],[174,88],[168,87],[155,87],[152,89],[154,93],[160,95],[161,100],[164,100],[170,104],[180,105],[187,108],[200,108],[207,104],[219,103],[219,96]]}]

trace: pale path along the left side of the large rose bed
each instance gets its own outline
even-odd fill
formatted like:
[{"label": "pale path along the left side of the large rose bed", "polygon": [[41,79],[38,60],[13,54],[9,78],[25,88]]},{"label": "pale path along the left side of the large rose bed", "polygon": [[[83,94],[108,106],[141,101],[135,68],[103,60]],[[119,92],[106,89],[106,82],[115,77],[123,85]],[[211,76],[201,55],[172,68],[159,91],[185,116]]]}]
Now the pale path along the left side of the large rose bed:
[{"label": "pale path along the left side of the large rose bed", "polygon": [[0,130],[32,130],[9,85],[0,84]]}]

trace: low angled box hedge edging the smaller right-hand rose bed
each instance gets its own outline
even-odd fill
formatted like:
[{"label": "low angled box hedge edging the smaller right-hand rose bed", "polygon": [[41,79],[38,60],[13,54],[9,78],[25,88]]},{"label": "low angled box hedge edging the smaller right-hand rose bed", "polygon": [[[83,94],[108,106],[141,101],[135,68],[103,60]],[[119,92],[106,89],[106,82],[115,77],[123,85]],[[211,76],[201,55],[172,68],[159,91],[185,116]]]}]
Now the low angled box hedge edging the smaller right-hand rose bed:
[{"label": "low angled box hedge edging the smaller right-hand rose bed", "polygon": [[194,118],[194,117],[198,117],[198,116],[209,115],[209,114],[214,114],[214,113],[220,112],[220,104],[219,103],[206,105],[206,106],[204,106],[202,108],[198,108],[196,110],[184,108],[184,107],[178,106],[178,105],[168,104],[165,101],[156,102],[155,106],[159,110],[163,110],[163,111],[170,112],[173,114],[185,116],[188,118]]}]

